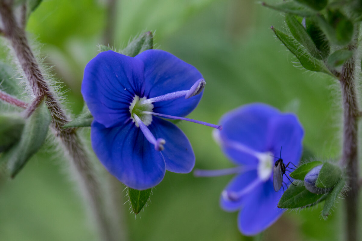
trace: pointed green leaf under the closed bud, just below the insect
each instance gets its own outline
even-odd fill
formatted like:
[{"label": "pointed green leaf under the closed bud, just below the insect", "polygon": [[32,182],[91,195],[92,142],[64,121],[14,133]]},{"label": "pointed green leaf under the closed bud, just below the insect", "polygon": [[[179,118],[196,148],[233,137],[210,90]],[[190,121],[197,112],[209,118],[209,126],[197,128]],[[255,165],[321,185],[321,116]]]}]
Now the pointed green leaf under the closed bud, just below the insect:
[{"label": "pointed green leaf under the closed bud, just below the insect", "polygon": [[303,182],[290,185],[279,200],[279,208],[298,208],[322,201],[326,194],[314,194],[306,189]]}]

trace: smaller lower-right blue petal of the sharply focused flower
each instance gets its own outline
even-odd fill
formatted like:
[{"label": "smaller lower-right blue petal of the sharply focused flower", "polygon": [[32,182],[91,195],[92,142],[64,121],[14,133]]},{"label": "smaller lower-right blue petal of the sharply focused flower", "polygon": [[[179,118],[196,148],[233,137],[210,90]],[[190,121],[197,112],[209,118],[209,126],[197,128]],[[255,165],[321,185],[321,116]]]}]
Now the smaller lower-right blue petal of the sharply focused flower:
[{"label": "smaller lower-right blue petal of the sharply focused flower", "polygon": [[195,165],[195,155],[186,135],[176,125],[153,116],[148,126],[156,138],[166,141],[162,152],[166,170],[176,173],[189,173]]}]

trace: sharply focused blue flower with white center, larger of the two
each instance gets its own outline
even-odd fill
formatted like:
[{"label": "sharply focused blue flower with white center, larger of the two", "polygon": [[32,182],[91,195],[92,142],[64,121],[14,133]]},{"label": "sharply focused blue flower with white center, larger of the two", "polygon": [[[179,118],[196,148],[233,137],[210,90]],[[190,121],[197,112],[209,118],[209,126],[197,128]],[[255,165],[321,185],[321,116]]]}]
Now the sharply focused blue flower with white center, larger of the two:
[{"label": "sharply focused blue flower with white center, larger of the two", "polygon": [[99,53],[84,70],[81,92],[94,117],[92,147],[101,163],[125,185],[148,189],[165,170],[190,172],[195,155],[185,134],[171,122],[190,120],[205,80],[193,66],[161,50],[135,57]]}]

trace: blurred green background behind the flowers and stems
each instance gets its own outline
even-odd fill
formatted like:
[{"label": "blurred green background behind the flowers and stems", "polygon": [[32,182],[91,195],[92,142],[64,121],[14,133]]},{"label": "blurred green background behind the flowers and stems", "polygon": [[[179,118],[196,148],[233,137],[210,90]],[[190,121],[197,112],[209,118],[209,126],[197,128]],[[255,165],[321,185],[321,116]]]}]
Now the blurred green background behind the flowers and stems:
[{"label": "blurred green background behind the flowers and stems", "polygon": [[[269,1],[272,2],[272,1]],[[27,30],[35,46],[54,66],[52,74],[68,90],[66,105],[81,111],[84,66],[97,54],[110,26],[117,49],[139,33],[152,31],[155,48],[194,65],[207,86],[193,119],[217,123],[223,113],[251,102],[264,102],[298,115],[304,145],[317,158],[338,159],[341,124],[339,86],[324,74],[303,70],[275,38],[270,26],[283,16],[250,0],[116,1],[114,19],[106,0],[43,0]],[[178,124],[196,155],[195,168],[232,167],[211,137],[211,129]],[[87,135],[87,132],[85,133]],[[89,133],[88,133],[89,134]],[[67,161],[53,149],[34,156],[14,179],[0,185],[0,240],[96,240]],[[102,167],[99,167],[102,170]],[[219,207],[219,196],[232,176],[195,178],[166,173],[153,190],[152,203],[135,218],[129,204],[123,219],[129,240],[253,240],[237,229],[237,212]],[[125,191],[119,190],[122,204]],[[343,204],[324,221],[323,206],[287,211],[256,240],[341,240]]]}]

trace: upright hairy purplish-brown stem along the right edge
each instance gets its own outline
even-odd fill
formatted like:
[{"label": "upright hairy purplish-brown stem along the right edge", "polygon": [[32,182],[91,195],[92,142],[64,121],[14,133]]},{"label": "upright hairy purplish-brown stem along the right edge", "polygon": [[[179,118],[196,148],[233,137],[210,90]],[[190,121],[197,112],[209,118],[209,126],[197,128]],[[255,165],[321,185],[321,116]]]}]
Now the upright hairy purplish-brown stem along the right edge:
[{"label": "upright hairy purplish-brown stem along the right edge", "polygon": [[[350,49],[353,49],[351,47]],[[354,84],[354,58],[343,65],[340,75],[343,103],[342,165],[346,168],[349,191],[345,197],[346,240],[358,240],[358,116],[359,109]]]}]

